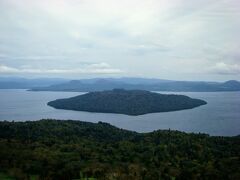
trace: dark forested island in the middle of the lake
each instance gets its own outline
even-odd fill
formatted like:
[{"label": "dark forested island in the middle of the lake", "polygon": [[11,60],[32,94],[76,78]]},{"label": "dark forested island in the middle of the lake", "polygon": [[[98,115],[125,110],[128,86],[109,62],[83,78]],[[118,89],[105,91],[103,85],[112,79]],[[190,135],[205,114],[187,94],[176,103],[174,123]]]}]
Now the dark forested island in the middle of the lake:
[{"label": "dark forested island in the middle of the lake", "polygon": [[48,103],[57,109],[142,115],[191,109],[206,104],[205,101],[183,95],[165,95],[143,90],[114,89],[90,92],[84,95],[58,99]]}]

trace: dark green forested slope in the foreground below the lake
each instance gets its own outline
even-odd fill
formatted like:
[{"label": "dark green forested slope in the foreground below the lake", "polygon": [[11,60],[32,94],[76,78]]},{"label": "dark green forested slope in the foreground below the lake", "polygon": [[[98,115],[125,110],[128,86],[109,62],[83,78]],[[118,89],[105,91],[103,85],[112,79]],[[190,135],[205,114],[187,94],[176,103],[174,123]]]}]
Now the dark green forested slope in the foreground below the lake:
[{"label": "dark green forested slope in the foreground below the lake", "polygon": [[240,137],[110,124],[0,122],[0,177],[8,179],[240,179]]}]

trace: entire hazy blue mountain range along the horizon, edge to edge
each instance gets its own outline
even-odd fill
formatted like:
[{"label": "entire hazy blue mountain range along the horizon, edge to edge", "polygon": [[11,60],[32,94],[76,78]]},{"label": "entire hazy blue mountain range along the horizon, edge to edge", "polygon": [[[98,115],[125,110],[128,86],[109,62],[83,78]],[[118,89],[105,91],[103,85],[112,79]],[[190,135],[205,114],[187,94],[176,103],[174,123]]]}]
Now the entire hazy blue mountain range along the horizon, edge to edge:
[{"label": "entire hazy blue mountain range along the horizon, edge to edge", "polygon": [[67,80],[61,78],[25,79],[0,77],[0,89],[30,89],[32,91],[89,92],[112,89],[148,91],[214,92],[240,91],[240,82],[174,81],[148,78],[93,78]]}]

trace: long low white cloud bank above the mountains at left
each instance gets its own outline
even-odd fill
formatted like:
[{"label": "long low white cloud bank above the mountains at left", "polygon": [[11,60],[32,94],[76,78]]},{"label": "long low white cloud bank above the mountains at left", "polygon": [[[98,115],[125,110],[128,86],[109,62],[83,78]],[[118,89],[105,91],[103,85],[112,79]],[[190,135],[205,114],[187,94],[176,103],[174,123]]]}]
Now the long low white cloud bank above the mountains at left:
[{"label": "long low white cloud bank above the mountains at left", "polygon": [[9,67],[0,65],[0,74],[13,73],[13,74],[119,74],[123,73],[122,70],[112,68],[107,63],[89,64],[81,68],[73,69],[39,69],[31,68],[29,66],[22,66],[20,68]]}]

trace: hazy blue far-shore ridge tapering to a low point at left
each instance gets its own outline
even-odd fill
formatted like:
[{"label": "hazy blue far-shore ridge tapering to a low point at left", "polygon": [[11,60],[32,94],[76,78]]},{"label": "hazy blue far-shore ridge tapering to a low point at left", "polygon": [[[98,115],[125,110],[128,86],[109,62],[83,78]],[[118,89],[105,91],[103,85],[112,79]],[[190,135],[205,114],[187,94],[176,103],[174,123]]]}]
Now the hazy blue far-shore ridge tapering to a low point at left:
[{"label": "hazy blue far-shore ridge tapering to a low point at left", "polygon": [[72,80],[47,87],[31,88],[32,91],[74,91],[90,92],[112,89],[148,90],[148,91],[179,91],[179,92],[215,92],[240,91],[240,82],[230,80],[226,82],[204,81],[173,81],[145,78],[96,78]]}]

